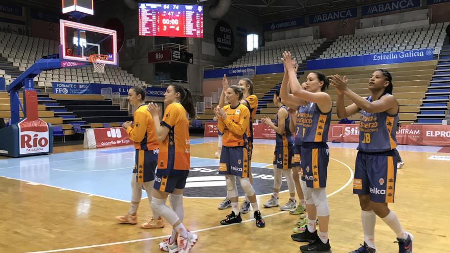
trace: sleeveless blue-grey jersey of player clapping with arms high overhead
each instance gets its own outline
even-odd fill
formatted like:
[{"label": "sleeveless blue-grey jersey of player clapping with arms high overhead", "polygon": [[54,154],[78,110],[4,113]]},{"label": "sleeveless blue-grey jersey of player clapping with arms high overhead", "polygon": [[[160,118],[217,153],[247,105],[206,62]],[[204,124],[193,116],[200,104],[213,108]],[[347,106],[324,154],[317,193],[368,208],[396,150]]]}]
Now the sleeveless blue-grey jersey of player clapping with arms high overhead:
[{"label": "sleeveless blue-grey jersey of player clapping with arms high overhead", "polygon": [[331,110],[323,113],[316,103],[308,104],[300,112],[299,110],[299,134],[302,135],[302,143],[305,142],[323,142],[328,140],[328,130],[331,123]]}]

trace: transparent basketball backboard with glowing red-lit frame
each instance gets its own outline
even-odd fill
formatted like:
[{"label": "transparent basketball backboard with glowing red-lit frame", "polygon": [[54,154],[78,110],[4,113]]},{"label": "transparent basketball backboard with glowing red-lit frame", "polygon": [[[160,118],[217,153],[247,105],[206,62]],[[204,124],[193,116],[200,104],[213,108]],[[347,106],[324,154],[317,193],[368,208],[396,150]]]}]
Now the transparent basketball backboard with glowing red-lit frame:
[{"label": "transparent basketball backboard with glowing red-lit frame", "polygon": [[59,24],[61,60],[87,63],[90,55],[102,54],[107,59],[101,62],[118,64],[116,31],[63,19]]}]

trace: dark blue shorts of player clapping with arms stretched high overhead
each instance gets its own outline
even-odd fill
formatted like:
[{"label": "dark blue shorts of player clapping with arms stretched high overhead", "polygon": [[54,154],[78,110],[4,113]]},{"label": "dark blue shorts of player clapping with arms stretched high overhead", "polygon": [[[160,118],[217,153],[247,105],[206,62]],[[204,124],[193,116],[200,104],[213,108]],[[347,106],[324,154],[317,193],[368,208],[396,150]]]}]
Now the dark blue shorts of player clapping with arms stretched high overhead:
[{"label": "dark blue shorts of player clapping with arms stretched high overhead", "polygon": [[323,188],[327,186],[330,151],[323,142],[302,144],[302,171],[306,186]]}]

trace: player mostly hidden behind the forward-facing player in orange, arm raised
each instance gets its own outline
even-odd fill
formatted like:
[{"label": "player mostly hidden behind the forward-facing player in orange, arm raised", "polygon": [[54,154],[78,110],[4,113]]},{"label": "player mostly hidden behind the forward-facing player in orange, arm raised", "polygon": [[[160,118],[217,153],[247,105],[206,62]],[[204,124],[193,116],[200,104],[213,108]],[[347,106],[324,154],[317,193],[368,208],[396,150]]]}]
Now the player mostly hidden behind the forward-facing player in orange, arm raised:
[{"label": "player mostly hidden behind the forward-facing player in orange, arm raised", "polygon": [[[222,86],[223,86],[223,91],[222,94],[220,95],[220,99],[219,99],[219,107],[223,108],[223,106],[225,106],[224,102],[224,98],[225,98],[225,90],[227,90],[228,88],[228,79],[227,79],[227,75],[223,75],[223,79],[222,79]],[[253,120],[255,119],[256,116],[256,111],[258,110],[258,98],[253,94],[253,82],[252,80],[248,79],[248,78],[242,78],[239,80],[238,82],[238,86],[243,88],[243,98],[241,99],[239,102],[243,105],[245,105],[247,108],[249,108],[250,110],[250,122],[249,122],[249,127],[250,127],[250,135],[249,135],[249,170],[251,170],[251,165],[252,165],[252,154],[253,154]],[[252,173],[249,173],[250,175],[250,183],[253,185],[253,177],[252,177]],[[228,198],[228,197],[227,197]],[[223,205],[224,202],[226,202],[227,199],[223,200],[222,203],[219,204]],[[248,213],[250,210],[250,201],[249,201],[249,197],[247,196],[247,194],[245,194],[245,200],[242,201],[242,205],[241,205],[241,209],[240,212],[243,214]]]}]

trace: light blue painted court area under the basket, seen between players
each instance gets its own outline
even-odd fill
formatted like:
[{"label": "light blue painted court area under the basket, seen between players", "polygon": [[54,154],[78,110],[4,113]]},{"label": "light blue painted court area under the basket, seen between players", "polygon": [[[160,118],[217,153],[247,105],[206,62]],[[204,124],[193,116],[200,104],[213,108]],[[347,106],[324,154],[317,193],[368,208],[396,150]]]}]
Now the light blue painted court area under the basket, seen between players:
[{"label": "light blue painted court area under the basket, seen between players", "polygon": [[[191,139],[191,145],[214,141],[217,138]],[[133,165],[134,148],[126,146],[2,159],[0,176],[130,201]],[[218,159],[191,158],[191,167],[218,165]],[[269,165],[252,163],[255,167]]]}]

